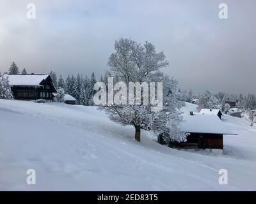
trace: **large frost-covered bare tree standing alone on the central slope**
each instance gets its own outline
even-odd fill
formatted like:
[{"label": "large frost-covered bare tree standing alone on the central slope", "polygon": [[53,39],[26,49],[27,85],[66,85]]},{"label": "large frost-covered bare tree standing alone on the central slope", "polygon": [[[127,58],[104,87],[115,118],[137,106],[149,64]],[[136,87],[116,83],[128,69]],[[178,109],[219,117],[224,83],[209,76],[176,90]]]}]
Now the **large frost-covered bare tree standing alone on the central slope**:
[{"label": "large frost-covered bare tree standing alone on the central slope", "polygon": [[[163,82],[163,73],[159,73],[159,69],[167,65],[168,62],[165,60],[163,52],[157,53],[151,43],[146,41],[145,45],[140,45],[135,41],[123,38],[115,42],[115,53],[111,54],[108,61],[111,76],[115,77],[118,82],[124,82],[127,87],[129,87],[129,82]],[[168,85],[163,86],[168,87]],[[164,90],[167,90],[167,87]],[[169,91],[165,92],[171,94]],[[140,105],[113,104],[100,106],[100,109],[106,110],[111,120],[124,126],[134,126],[135,140],[137,141],[140,141],[141,129],[152,129],[158,133],[166,129],[165,131],[171,133],[171,138],[184,138],[185,135],[180,133],[177,127],[179,122],[176,123],[181,119],[177,112],[177,99],[175,98],[175,103],[170,101],[168,107],[163,108],[163,112],[152,112],[152,105],[145,105],[143,96],[144,92],[141,92]],[[161,123],[163,120],[164,123]],[[174,129],[175,131],[171,131]]]}]

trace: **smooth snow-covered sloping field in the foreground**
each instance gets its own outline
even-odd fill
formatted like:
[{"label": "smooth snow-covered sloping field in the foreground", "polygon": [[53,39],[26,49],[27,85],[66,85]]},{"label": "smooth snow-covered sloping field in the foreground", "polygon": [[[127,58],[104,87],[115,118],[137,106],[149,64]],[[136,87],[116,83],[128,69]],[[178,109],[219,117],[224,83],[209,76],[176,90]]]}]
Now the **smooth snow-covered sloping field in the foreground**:
[{"label": "smooth snow-covered sloping field in the foreground", "polygon": [[[223,122],[238,135],[224,136],[225,154],[214,155],[170,149],[145,131],[135,142],[132,127],[95,107],[0,99],[0,190],[255,191],[256,128]],[[28,169],[36,185],[26,183]]]}]

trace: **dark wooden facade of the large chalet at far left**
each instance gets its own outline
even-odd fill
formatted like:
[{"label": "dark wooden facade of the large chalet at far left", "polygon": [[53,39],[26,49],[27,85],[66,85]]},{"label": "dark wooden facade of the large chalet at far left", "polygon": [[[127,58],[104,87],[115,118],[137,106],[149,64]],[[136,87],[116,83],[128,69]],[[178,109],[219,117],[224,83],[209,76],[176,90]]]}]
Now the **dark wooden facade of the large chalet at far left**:
[{"label": "dark wooden facade of the large chalet at far left", "polygon": [[56,92],[50,76],[42,80],[39,85],[12,85],[11,89],[13,98],[19,100],[52,100],[54,97],[52,92]]}]

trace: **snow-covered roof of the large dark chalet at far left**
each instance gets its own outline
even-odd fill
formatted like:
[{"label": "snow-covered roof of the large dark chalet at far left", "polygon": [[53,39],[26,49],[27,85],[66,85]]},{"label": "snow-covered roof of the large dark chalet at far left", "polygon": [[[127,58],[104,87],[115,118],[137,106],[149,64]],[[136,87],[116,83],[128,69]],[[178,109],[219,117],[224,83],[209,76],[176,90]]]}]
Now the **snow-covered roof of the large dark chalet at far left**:
[{"label": "snow-covered roof of the large dark chalet at far left", "polygon": [[3,75],[8,77],[10,85],[37,85],[40,86],[42,80],[45,80],[49,75]]}]

